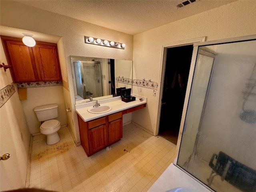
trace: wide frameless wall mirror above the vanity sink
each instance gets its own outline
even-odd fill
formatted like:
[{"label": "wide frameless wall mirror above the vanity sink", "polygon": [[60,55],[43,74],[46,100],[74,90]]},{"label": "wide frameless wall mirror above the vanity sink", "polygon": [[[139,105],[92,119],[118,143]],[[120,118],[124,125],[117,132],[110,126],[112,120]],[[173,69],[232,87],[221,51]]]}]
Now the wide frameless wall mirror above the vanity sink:
[{"label": "wide frameless wall mirror above the vanity sink", "polygon": [[76,104],[110,98],[132,88],[132,61],[70,56]]}]

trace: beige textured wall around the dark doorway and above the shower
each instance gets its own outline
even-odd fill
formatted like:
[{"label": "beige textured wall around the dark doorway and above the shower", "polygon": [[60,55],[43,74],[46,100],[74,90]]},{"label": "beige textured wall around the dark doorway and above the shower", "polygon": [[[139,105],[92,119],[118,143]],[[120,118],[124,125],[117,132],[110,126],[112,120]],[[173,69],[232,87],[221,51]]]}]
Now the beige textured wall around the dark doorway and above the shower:
[{"label": "beige textured wall around the dark doorway and above the shower", "polygon": [[[135,35],[133,79],[151,79],[161,87],[159,74],[164,44],[203,36],[208,41],[256,34],[255,10],[256,1],[237,1]],[[143,88],[139,92],[139,87],[133,86],[132,92],[148,98],[147,107],[143,112],[133,112],[132,120],[154,132],[158,124],[159,91],[152,96],[152,90]]]}]

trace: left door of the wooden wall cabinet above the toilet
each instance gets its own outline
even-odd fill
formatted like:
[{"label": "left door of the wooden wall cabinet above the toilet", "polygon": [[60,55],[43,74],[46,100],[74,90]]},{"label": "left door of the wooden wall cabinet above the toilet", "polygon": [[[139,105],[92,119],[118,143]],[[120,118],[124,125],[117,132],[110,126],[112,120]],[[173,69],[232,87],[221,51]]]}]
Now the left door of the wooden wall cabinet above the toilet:
[{"label": "left door of the wooden wall cabinet above the toilet", "polygon": [[31,47],[16,38],[2,37],[4,52],[14,83],[38,81],[37,69]]}]

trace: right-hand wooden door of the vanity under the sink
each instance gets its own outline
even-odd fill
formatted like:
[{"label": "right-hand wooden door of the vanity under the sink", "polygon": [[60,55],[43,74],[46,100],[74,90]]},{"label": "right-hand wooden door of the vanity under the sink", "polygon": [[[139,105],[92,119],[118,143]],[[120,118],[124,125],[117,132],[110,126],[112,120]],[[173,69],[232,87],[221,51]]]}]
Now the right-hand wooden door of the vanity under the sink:
[{"label": "right-hand wooden door of the vanity under the sink", "polygon": [[112,144],[123,137],[122,118],[108,123],[108,140]]}]

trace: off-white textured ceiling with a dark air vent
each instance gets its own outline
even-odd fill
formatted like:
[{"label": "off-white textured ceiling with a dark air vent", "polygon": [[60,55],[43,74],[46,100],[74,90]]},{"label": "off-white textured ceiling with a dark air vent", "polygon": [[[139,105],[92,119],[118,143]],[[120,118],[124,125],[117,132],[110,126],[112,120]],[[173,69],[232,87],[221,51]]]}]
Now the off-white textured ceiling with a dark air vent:
[{"label": "off-white textured ceiling with a dark air vent", "polygon": [[234,0],[197,0],[182,8],[180,0],[17,0],[58,13],[135,35]]}]

